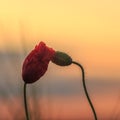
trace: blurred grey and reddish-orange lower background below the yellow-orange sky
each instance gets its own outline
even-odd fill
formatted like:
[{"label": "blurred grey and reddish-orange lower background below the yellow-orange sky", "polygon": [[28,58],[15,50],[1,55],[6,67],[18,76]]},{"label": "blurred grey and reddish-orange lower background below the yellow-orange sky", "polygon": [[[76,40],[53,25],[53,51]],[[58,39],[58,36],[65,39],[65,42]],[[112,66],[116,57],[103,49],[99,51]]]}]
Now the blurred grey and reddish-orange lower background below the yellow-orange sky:
[{"label": "blurred grey and reddish-orange lower background below the yellow-orange sky", "polygon": [[[24,55],[0,53],[0,120],[24,120],[21,65]],[[50,68],[38,82],[28,85],[32,120],[92,120],[81,76],[54,75]],[[119,81],[87,78],[89,94],[99,120],[119,120]]]}]

